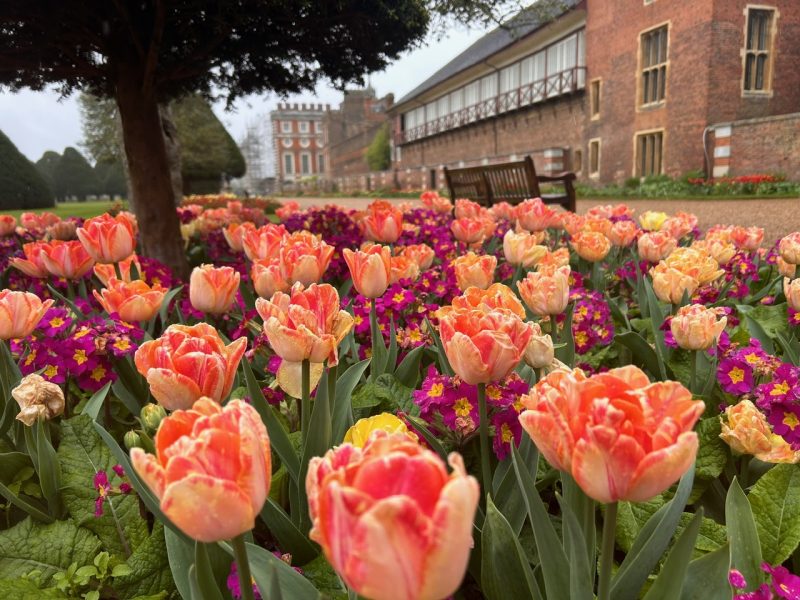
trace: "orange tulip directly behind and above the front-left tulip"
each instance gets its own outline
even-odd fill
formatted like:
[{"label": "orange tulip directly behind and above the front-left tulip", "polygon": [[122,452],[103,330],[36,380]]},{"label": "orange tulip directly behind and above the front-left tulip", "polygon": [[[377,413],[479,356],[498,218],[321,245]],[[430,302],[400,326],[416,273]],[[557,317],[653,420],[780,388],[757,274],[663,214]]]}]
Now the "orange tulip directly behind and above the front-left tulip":
[{"label": "orange tulip directly behind and above the front-left tulip", "polygon": [[134,362],[161,406],[186,409],[202,396],[227,398],[246,349],[247,338],[226,346],[208,323],[170,325],[160,338],[139,346]]}]

